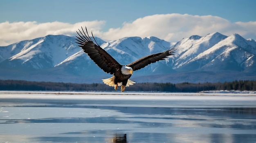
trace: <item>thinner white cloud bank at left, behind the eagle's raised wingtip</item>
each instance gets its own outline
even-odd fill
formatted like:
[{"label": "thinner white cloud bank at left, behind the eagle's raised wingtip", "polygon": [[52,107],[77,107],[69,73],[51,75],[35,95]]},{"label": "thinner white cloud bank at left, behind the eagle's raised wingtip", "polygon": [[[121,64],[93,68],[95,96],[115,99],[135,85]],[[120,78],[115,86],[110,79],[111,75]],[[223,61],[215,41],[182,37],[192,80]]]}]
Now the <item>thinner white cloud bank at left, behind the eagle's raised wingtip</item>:
[{"label": "thinner white cloud bank at left, behind the eagle's raised wingtip", "polygon": [[99,30],[105,21],[78,22],[75,24],[63,22],[3,22],[0,23],[0,45],[9,45],[22,40],[44,37],[46,35],[70,35],[81,26]]}]

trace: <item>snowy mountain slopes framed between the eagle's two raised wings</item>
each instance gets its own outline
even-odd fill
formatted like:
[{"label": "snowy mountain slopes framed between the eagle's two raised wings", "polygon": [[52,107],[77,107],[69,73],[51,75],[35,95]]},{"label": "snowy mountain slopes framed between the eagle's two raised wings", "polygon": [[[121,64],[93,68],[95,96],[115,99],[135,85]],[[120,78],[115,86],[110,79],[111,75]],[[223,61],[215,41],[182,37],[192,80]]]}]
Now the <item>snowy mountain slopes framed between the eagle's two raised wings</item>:
[{"label": "snowy mountain slopes framed between the eagle's two raised wings", "polygon": [[170,47],[169,42],[157,37],[146,37],[144,39],[141,39],[141,37],[125,37],[102,45],[104,50],[123,65],[149,54],[164,52]]}]

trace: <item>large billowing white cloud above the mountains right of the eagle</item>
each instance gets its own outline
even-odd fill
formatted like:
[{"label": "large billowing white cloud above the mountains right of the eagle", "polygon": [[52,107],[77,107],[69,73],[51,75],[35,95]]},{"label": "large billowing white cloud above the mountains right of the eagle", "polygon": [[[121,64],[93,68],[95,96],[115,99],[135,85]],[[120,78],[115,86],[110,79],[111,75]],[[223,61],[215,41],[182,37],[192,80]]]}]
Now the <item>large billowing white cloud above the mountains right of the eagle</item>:
[{"label": "large billowing white cloud above the mountains right of the eagle", "polygon": [[[139,18],[132,23],[124,23],[121,28],[110,29],[108,32],[102,33],[101,37],[113,40],[131,36],[155,36],[166,41],[176,42],[191,35],[204,36],[209,33],[220,32],[227,36],[238,33],[245,38],[254,39],[256,37],[255,29],[256,22],[231,23],[212,15],[198,16],[173,13]],[[247,35],[252,37],[247,37]]]}]

